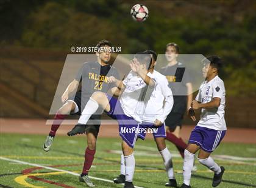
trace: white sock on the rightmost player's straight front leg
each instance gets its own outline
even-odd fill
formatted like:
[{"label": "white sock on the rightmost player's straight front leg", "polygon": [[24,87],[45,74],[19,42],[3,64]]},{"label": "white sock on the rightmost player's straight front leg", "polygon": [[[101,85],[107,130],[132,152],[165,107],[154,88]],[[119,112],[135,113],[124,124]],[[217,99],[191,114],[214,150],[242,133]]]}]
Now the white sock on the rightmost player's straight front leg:
[{"label": "white sock on the rightmost player's straight front leg", "polygon": [[183,162],[183,183],[187,186],[190,185],[191,172],[194,165],[194,154],[188,152],[185,149],[184,151],[184,162]]}]

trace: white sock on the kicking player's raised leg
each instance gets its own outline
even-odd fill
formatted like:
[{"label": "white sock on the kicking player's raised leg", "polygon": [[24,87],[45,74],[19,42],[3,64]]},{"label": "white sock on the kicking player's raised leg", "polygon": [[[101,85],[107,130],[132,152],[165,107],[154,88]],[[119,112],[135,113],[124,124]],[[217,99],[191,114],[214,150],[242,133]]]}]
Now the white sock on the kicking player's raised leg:
[{"label": "white sock on the kicking player's raised leg", "polygon": [[98,102],[90,98],[87,104],[85,105],[85,109],[80,115],[78,123],[87,124],[87,121],[90,119],[91,115],[93,115],[93,113],[95,113],[98,110],[98,107],[99,107]]}]

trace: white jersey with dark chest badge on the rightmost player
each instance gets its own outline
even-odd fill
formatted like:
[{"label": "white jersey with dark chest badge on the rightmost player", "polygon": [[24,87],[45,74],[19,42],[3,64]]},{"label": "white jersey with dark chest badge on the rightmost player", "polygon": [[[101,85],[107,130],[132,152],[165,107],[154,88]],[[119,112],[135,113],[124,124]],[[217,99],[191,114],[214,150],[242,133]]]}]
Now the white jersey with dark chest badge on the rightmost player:
[{"label": "white jersey with dark chest badge on the rightmost player", "polygon": [[201,119],[197,126],[207,127],[215,130],[227,130],[225,115],[226,90],[224,82],[219,76],[215,76],[209,82],[202,82],[199,92],[196,96],[196,101],[207,103],[213,98],[221,98],[221,104],[218,108],[202,109]]}]

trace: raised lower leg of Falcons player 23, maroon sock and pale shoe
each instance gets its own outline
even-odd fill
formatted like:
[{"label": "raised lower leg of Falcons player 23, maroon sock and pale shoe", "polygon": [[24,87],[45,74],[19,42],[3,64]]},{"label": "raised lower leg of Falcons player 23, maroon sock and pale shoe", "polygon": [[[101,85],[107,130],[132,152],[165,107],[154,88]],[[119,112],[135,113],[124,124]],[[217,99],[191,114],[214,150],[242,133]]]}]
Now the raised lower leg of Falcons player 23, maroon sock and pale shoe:
[{"label": "raised lower leg of Falcons player 23, maroon sock and pale shoe", "polygon": [[54,116],[54,122],[51,126],[51,131],[49,132],[49,135],[47,136],[46,140],[43,144],[43,150],[48,152],[51,149],[52,143],[54,141],[54,136],[57,132],[57,130],[60,127],[60,124],[63,122],[63,120],[66,118],[66,114],[70,111],[73,111],[75,109],[76,105],[72,101],[66,102],[56,113]]}]

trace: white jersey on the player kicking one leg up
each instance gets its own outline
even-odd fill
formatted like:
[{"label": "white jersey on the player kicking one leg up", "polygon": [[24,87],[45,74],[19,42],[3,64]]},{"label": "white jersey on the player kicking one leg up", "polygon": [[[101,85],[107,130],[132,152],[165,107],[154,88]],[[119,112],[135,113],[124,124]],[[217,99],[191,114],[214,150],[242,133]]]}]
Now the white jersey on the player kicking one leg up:
[{"label": "white jersey on the player kicking one leg up", "polygon": [[141,90],[146,87],[147,84],[137,73],[132,71],[123,80],[123,84],[126,88],[120,98],[121,107],[127,116],[141,123],[140,109],[142,106],[138,100],[141,95]]}]

